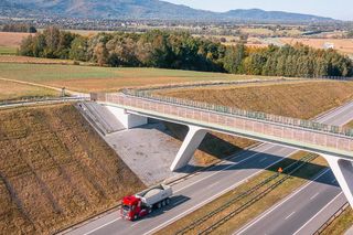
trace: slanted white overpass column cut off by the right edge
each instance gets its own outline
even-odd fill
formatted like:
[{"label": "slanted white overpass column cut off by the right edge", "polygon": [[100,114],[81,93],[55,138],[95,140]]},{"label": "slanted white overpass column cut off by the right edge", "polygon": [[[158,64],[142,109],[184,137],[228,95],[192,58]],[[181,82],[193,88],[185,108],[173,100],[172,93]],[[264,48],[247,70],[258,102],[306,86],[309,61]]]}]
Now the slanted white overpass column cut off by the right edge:
[{"label": "slanted white overpass column cut off by the right edge", "polygon": [[323,157],[329,162],[344,195],[353,207],[353,162],[332,156]]}]

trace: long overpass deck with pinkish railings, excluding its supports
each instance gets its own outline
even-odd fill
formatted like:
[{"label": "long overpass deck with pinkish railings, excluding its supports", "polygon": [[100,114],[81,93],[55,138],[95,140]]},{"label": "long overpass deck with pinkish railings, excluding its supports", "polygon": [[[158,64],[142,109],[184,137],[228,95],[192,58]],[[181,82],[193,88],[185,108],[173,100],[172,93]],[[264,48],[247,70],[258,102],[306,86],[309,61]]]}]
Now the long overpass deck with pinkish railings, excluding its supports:
[{"label": "long overpass deck with pinkish railings, excluding its supports", "polygon": [[332,130],[310,129],[124,94],[105,94],[98,96],[97,100],[140,115],[353,159],[353,137]]}]

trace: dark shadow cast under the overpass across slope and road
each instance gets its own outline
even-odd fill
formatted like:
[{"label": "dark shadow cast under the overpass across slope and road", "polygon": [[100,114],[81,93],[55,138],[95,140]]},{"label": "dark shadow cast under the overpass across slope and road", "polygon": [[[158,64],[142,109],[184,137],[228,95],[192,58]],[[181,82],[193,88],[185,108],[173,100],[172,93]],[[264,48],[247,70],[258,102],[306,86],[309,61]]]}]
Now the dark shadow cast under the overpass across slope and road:
[{"label": "dark shadow cast under the overpass across slope and road", "polygon": [[[188,133],[188,127],[182,125],[175,125],[170,122],[164,122],[167,128],[171,131],[174,138],[180,139],[181,141],[185,138]],[[238,137],[234,137],[236,139],[239,139]],[[289,148],[280,147],[280,146],[274,146],[275,152],[280,152],[281,150],[288,149],[287,151],[282,152],[291,152]],[[227,162],[229,163],[223,163],[223,164],[216,164],[208,168],[201,168],[201,167],[194,167],[194,165],[186,165],[185,168],[180,169],[178,172],[181,173],[189,173],[191,171],[191,168],[193,170],[202,170],[202,171],[234,171],[234,170],[244,170],[244,169],[258,169],[272,172],[278,172],[278,169],[286,169],[288,165],[295,165],[293,168],[298,165],[302,165],[300,169],[291,173],[293,178],[300,178],[304,180],[313,180],[315,173],[313,172],[322,172],[328,167],[324,164],[317,164],[313,162],[307,162],[302,160],[297,159],[290,159],[285,158],[284,156],[276,156],[271,153],[264,153],[264,152],[257,152],[254,150],[245,150],[242,149],[234,143],[226,141],[213,133],[207,133],[202,143],[199,147],[199,150],[210,154],[214,158],[217,158],[220,160],[223,160],[229,156],[235,156],[234,158],[227,158]],[[295,152],[293,152],[295,153]],[[310,154],[310,153],[307,153]],[[301,157],[306,157],[307,154],[302,154]],[[265,159],[265,160],[264,160]],[[274,164],[277,162],[276,164]],[[325,162],[325,160],[322,160],[322,162]],[[274,165],[271,165],[274,164]],[[269,167],[271,165],[271,167]],[[268,168],[269,167],[269,168]],[[292,169],[293,169],[292,168]],[[286,174],[287,171],[284,172]],[[332,174],[332,172],[330,172]],[[333,174],[332,174],[332,178]],[[315,179],[315,182],[330,184],[334,186],[339,186],[336,182],[332,182],[332,179],[330,177],[330,180],[328,178],[319,178]]]}]

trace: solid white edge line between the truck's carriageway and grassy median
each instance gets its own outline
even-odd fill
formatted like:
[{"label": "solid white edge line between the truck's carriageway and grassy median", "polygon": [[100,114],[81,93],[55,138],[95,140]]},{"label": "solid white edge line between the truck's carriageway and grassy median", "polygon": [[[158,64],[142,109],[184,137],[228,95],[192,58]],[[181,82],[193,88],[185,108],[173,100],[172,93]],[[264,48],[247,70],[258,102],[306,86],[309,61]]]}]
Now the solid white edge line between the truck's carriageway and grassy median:
[{"label": "solid white edge line between the truck's carriageway and grassy median", "polygon": [[[292,152],[291,152],[291,153],[289,153],[289,154],[287,154],[287,156],[285,156],[284,158],[287,158],[287,157],[289,157],[289,156],[291,156],[291,154],[292,154]],[[279,160],[275,161],[274,163],[271,163],[270,165],[268,165],[266,169],[268,169],[268,168],[272,167],[274,164],[277,164],[277,163],[278,163],[279,161],[281,161],[281,160],[282,160],[282,159],[279,159]],[[162,228],[162,227],[167,226],[168,224],[171,224],[171,223],[173,223],[174,221],[178,221],[180,217],[183,217],[184,215],[186,215],[186,214],[191,213],[192,211],[196,210],[197,207],[201,207],[201,206],[203,206],[203,205],[207,204],[208,202],[211,202],[211,201],[213,201],[213,200],[217,199],[217,197],[218,197],[218,196],[221,196],[222,194],[224,194],[224,193],[226,193],[226,192],[231,191],[232,189],[237,188],[237,186],[238,186],[238,185],[240,185],[242,183],[246,182],[248,179],[253,178],[254,175],[256,175],[256,174],[258,174],[258,173],[260,173],[260,172],[263,172],[263,171],[264,171],[264,170],[260,170],[260,171],[258,171],[258,172],[255,172],[254,174],[252,174],[252,175],[249,175],[249,177],[247,177],[247,178],[243,179],[242,181],[237,182],[236,184],[233,184],[232,186],[229,186],[229,188],[227,188],[227,189],[223,190],[222,192],[220,192],[220,193],[217,193],[217,194],[215,194],[215,195],[211,196],[210,199],[207,199],[207,200],[205,200],[205,201],[203,201],[203,202],[199,203],[197,205],[194,205],[193,207],[191,207],[191,209],[186,210],[185,212],[183,212],[183,213],[181,213],[181,214],[176,215],[175,217],[173,217],[173,218],[171,218],[171,220],[169,220],[169,221],[165,221],[164,223],[160,224],[159,226],[157,226],[157,227],[154,227],[154,228],[152,228],[152,229],[150,229],[150,231],[148,231],[148,232],[143,233],[143,235],[152,234],[153,232],[156,232],[156,231],[158,231],[158,229],[160,229],[160,228]]]}]

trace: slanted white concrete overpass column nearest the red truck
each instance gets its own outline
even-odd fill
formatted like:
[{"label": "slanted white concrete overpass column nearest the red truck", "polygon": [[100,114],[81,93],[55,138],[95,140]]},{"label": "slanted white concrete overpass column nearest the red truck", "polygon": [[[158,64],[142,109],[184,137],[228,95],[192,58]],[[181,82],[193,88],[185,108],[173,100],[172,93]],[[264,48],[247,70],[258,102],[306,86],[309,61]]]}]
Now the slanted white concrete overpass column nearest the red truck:
[{"label": "slanted white concrete overpass column nearest the red truck", "polygon": [[176,171],[189,163],[206,133],[205,129],[189,126],[189,132],[170,167],[171,171]]}]

